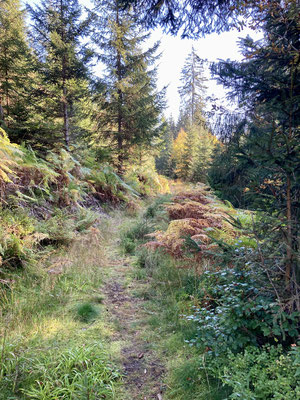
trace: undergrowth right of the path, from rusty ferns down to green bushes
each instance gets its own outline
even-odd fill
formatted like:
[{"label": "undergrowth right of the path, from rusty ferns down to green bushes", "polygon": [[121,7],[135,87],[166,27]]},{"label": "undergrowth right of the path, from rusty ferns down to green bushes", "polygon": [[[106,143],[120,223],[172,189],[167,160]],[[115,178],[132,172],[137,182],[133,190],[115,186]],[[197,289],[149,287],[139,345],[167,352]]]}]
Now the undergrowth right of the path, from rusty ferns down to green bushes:
[{"label": "undergrowth right of the path, from rusty ferns down to green bushes", "polygon": [[179,189],[158,197],[121,242],[137,278],[149,280],[139,295],[147,340],[166,360],[164,398],[298,398],[299,315],[258,262],[261,217],[204,185]]}]

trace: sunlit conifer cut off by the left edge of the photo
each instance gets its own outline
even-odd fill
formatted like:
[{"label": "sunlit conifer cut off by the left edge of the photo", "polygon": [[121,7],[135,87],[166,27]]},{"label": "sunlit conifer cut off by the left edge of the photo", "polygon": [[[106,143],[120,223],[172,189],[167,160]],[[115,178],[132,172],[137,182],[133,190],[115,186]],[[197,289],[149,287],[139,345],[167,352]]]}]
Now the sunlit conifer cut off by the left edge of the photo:
[{"label": "sunlit conifer cut off by the left edge of the photo", "polygon": [[0,125],[22,135],[29,110],[31,54],[19,0],[0,0]]}]

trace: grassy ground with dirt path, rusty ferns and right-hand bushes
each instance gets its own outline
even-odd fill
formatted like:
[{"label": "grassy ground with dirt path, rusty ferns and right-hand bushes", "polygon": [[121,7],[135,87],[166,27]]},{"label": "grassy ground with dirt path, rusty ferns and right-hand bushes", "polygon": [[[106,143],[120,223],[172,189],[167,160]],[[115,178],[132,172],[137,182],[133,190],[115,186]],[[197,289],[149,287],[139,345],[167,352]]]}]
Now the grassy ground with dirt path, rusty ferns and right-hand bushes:
[{"label": "grassy ground with dirt path, rusty ferns and right-hand bushes", "polygon": [[6,279],[3,400],[299,396],[298,315],[251,269],[256,216],[171,189]]}]

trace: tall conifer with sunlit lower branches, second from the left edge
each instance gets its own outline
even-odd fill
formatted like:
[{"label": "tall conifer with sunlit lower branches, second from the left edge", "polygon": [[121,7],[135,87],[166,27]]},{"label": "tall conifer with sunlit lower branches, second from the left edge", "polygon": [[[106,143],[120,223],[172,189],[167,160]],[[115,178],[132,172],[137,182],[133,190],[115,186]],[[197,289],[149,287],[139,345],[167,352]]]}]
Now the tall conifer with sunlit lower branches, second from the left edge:
[{"label": "tall conifer with sunlit lower branches, second from the left edge", "polygon": [[[40,112],[52,131],[63,134],[69,149],[71,134],[76,131],[76,109],[88,92],[88,65],[92,52],[84,38],[89,20],[82,18],[78,0],[42,1],[28,6],[33,19],[32,36],[42,74]],[[76,107],[77,106],[77,107]],[[47,129],[47,128],[46,128]],[[57,138],[60,141],[60,138]]]}]

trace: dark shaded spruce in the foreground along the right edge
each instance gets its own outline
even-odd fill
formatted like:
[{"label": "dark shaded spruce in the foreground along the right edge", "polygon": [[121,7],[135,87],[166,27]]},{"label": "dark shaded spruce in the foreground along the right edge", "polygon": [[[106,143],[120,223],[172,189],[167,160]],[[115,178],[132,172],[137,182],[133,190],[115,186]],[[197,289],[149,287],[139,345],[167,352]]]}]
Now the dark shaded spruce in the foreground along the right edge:
[{"label": "dark shaded spruce in the foreground along the right edge", "polygon": [[242,40],[245,60],[223,61],[213,72],[245,112],[244,134],[236,154],[243,167],[240,175],[246,173],[242,182],[247,182],[245,189],[252,193],[253,204],[280,216],[273,228],[280,226],[283,233],[285,281],[299,301],[295,283],[300,276],[296,257],[300,216],[298,11],[295,0],[268,4],[264,39]]}]

